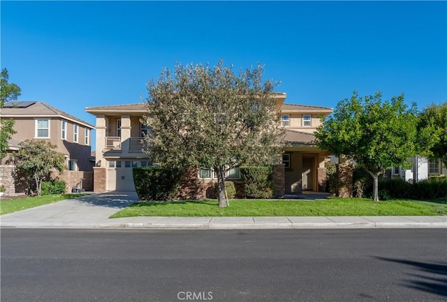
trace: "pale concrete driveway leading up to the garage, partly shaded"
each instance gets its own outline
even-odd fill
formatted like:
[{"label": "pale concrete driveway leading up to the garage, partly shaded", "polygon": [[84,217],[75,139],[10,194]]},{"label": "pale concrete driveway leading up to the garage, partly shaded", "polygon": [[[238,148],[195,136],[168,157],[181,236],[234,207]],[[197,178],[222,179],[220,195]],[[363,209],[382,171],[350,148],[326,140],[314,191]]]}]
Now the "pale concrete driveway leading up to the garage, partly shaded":
[{"label": "pale concrete driveway leading up to the garage, partly shaded", "polygon": [[113,227],[109,216],[138,201],[135,192],[105,192],[0,216],[1,227]]}]

